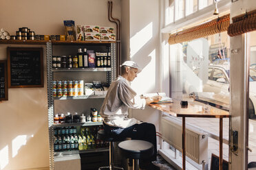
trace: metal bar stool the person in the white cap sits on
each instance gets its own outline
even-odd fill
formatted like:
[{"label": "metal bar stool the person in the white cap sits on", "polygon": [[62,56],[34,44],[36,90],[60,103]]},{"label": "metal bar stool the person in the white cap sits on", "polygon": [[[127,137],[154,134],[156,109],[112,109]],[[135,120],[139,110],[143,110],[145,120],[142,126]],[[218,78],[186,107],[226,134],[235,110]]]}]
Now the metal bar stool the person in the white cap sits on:
[{"label": "metal bar stool the person in the white cap sits on", "polygon": [[114,154],[114,142],[118,141],[115,138],[111,138],[111,136],[109,136],[105,130],[99,130],[98,131],[98,139],[102,140],[102,141],[109,141],[109,166],[108,167],[100,167],[98,170],[103,170],[103,169],[122,169],[121,167],[115,167],[114,166],[114,158],[112,156],[112,154]]}]

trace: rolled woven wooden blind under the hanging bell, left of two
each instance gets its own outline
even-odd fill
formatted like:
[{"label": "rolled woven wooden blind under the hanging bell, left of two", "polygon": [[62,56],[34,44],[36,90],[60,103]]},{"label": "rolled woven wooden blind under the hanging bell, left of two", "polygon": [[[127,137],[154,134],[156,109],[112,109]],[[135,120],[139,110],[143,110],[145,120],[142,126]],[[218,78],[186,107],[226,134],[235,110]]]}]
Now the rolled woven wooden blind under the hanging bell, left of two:
[{"label": "rolled woven wooden blind under the hanging bell, left of two", "polygon": [[211,36],[220,32],[226,32],[229,26],[230,15],[226,14],[217,19],[203,23],[189,29],[184,29],[181,32],[171,34],[169,36],[169,44],[176,44],[179,42],[195,40],[205,36]]}]

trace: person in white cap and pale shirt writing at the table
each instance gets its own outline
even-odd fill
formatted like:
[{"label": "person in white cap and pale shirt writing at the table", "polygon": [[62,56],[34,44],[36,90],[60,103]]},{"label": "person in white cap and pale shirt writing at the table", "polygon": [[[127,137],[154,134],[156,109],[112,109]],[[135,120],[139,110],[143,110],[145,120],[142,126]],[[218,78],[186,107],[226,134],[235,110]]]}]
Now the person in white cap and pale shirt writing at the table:
[{"label": "person in white cap and pale shirt writing at the table", "polygon": [[114,138],[131,138],[148,141],[154,146],[154,154],[149,160],[140,160],[141,169],[160,169],[151,161],[156,160],[156,127],[151,123],[128,118],[128,109],[144,109],[146,104],[160,101],[160,96],[139,97],[131,89],[130,82],[140,73],[140,68],[133,61],[126,61],[121,66],[121,75],[111,83],[100,108],[105,132]]}]

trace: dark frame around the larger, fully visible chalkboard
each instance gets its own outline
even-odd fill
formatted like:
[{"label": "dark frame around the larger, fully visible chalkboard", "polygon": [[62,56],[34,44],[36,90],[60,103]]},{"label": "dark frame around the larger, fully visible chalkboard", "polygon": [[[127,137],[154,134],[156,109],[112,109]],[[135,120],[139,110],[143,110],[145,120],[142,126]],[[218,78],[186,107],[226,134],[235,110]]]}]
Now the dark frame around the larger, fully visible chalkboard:
[{"label": "dark frame around the larger, fully visible chalkboard", "polygon": [[[11,75],[11,63],[10,63],[10,53],[11,51],[39,51],[40,53],[40,73],[41,73],[41,84],[33,84],[33,85],[12,85],[12,75]],[[43,48],[35,48],[35,47],[8,47],[8,88],[36,88],[43,87]]]}]

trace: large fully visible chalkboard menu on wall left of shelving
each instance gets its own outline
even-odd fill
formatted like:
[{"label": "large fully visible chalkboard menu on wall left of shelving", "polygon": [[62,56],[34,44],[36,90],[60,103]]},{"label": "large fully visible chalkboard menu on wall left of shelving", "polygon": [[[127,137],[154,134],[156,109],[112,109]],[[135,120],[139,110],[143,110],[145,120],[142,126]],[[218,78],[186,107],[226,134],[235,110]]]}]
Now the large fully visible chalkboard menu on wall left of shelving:
[{"label": "large fully visible chalkboard menu on wall left of shelving", "polygon": [[43,49],[8,47],[8,87],[43,87]]}]

